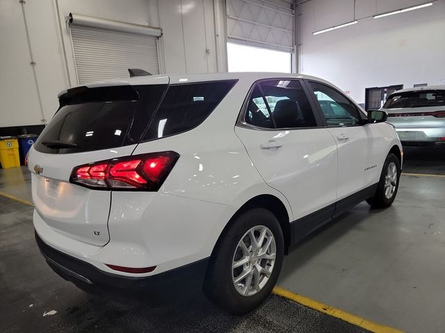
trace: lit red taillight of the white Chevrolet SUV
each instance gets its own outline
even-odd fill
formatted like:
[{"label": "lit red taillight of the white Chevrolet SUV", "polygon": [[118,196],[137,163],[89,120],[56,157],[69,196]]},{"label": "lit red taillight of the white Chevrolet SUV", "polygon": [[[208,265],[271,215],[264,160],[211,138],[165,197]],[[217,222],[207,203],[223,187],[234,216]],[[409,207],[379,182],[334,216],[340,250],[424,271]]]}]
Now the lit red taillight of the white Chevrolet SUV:
[{"label": "lit red taillight of the white Chevrolet SUV", "polygon": [[91,189],[157,191],[178,158],[163,151],[83,164],[72,170],[70,182]]}]

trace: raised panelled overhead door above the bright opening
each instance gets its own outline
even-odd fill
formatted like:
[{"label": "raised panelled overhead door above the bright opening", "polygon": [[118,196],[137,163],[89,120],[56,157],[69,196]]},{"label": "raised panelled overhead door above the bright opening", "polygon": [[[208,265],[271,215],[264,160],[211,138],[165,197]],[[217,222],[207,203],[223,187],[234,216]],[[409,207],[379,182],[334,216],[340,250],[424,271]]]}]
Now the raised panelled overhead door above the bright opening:
[{"label": "raised panelled overhead door above the bright opening", "polygon": [[226,10],[229,42],[293,52],[292,3],[227,0]]}]

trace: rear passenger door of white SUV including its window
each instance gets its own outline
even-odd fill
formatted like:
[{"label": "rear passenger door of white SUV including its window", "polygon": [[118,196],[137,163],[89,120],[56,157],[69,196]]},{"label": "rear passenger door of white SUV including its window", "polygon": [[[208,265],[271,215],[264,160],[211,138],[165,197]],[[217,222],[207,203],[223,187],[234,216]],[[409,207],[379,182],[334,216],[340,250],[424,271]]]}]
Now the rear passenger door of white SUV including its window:
[{"label": "rear passenger door of white SUV including its window", "polygon": [[311,223],[302,227],[309,232],[333,213],[337,145],[301,82],[289,78],[257,82],[235,132],[266,183],[289,200],[294,220],[320,213],[316,222],[307,221]]}]

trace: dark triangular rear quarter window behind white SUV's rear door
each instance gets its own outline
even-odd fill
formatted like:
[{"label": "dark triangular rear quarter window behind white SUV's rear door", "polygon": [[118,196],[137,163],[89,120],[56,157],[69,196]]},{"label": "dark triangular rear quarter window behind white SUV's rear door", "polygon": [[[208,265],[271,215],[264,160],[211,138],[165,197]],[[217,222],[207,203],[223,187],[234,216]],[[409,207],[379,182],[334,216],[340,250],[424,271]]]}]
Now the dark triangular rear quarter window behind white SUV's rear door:
[{"label": "dark triangular rear quarter window behind white SUV's rear door", "polygon": [[170,85],[143,141],[183,133],[215,110],[236,80]]}]

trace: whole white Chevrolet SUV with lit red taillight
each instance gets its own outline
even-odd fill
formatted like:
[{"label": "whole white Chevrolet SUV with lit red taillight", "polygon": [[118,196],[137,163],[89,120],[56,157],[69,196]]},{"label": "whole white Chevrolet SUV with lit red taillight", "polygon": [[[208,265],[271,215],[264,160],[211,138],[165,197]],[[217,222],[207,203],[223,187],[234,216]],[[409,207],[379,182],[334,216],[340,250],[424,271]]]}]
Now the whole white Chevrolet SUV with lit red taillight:
[{"label": "whole white Chevrolet SUV with lit red taillight", "polygon": [[48,264],[80,287],[149,288],[200,268],[207,296],[245,313],[291,246],[397,193],[386,112],[366,117],[319,78],[144,76],[59,99],[29,153],[33,221]]}]

